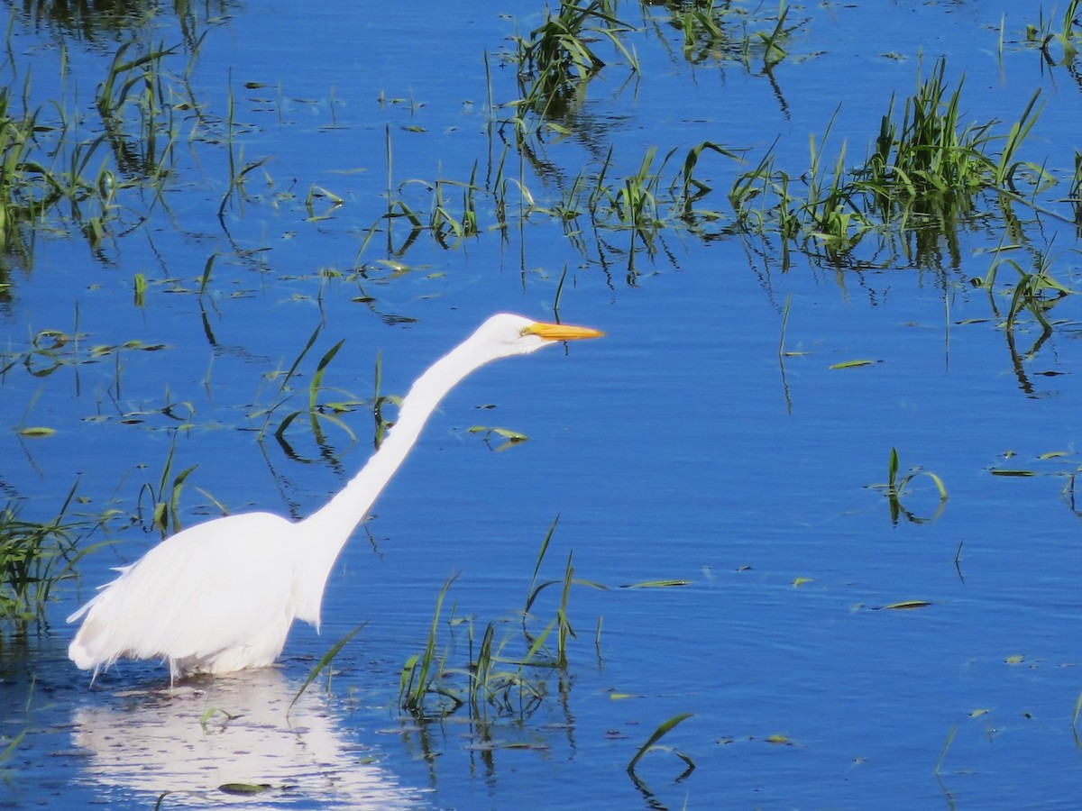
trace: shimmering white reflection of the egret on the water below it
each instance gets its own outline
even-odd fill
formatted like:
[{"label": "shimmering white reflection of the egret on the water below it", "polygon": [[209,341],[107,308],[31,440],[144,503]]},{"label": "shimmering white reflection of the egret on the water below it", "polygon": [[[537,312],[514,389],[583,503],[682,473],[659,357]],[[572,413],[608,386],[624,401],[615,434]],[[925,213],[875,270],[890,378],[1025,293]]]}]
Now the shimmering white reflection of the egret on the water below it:
[{"label": "shimmering white reflection of the egret on the water below it", "polygon": [[[77,780],[103,799],[114,790],[148,800],[168,792],[170,807],[383,809],[422,801],[342,734],[317,692],[290,709],[296,689],[278,669],[263,668],[114,693],[72,715],[72,744],[87,753]],[[252,795],[242,786],[265,789]]]}]

